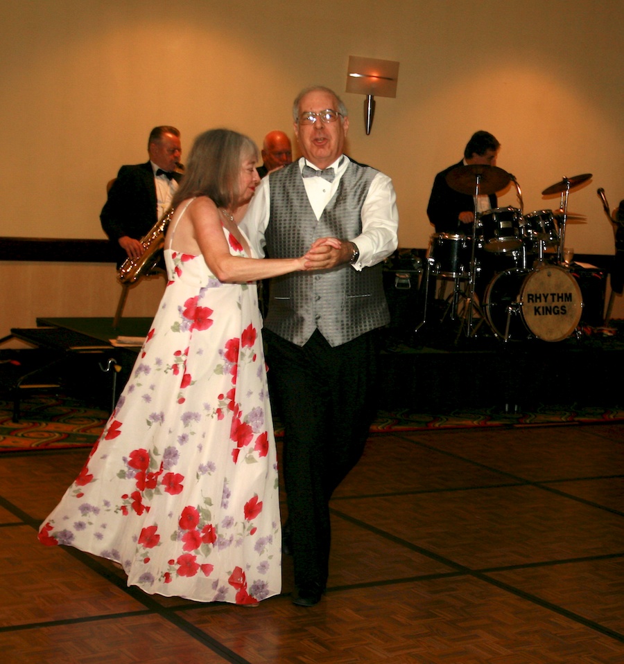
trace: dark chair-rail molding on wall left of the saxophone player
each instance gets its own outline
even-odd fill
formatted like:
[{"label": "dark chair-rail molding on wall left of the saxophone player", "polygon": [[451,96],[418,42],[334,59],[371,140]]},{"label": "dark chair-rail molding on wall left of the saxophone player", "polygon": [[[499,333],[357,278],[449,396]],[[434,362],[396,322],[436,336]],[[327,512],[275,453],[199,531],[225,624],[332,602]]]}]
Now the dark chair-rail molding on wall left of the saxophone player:
[{"label": "dark chair-rail molding on wall left of the saxophone player", "polygon": [[62,240],[55,237],[0,237],[0,260],[116,262],[108,240]]}]

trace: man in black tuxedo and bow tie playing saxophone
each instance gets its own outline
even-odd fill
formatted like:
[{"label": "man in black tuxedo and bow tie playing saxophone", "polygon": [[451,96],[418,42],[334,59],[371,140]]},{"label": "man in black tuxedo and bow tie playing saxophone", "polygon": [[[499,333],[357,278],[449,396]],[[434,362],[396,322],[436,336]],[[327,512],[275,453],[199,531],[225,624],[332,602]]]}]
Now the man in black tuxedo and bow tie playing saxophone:
[{"label": "man in black tuxedo and bow tie playing saxophone", "polygon": [[124,165],[102,208],[102,228],[114,246],[117,267],[144,252],[141,237],[157,223],[171,203],[182,178],[178,168],[182,147],[175,127],[154,127],[148,138],[146,163]]}]

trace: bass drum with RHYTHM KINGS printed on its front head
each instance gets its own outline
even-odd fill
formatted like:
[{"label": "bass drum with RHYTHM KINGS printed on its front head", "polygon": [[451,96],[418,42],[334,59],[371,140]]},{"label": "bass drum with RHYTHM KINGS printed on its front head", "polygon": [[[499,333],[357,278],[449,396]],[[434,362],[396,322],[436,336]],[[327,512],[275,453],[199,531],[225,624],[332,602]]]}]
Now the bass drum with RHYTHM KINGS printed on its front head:
[{"label": "bass drum with RHYTHM KINGS printed on its front head", "polygon": [[567,339],[578,326],[583,306],[575,278],[555,265],[501,272],[485,289],[484,300],[487,322],[505,341]]}]

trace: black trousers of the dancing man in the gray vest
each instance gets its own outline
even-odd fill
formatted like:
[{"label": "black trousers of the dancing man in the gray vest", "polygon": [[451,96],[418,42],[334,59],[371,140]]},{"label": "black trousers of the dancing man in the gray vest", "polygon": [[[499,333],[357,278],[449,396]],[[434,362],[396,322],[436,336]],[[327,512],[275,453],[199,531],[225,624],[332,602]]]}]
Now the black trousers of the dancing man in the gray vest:
[{"label": "black trousers of the dancing man in the gray vest", "polygon": [[327,584],[329,499],[356,465],[376,412],[376,331],[331,348],[263,332],[269,388],[284,424],[283,468],[295,584]]}]

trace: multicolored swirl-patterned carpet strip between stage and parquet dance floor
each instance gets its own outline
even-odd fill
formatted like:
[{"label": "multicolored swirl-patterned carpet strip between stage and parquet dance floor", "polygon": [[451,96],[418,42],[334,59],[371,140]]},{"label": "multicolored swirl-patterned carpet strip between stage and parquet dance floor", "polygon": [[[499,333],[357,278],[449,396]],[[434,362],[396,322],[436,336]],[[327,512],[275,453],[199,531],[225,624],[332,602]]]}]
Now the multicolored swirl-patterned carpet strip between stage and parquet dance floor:
[{"label": "multicolored swirl-patterned carpet strip between stage and parquet dance floor", "polygon": [[[0,452],[42,451],[91,447],[101,434],[107,412],[89,408],[69,397],[31,395],[21,404],[20,421],[12,422],[12,402],[0,399]],[[502,413],[498,409],[456,410],[449,413],[381,411],[371,433],[433,431],[474,427],[535,427],[624,421],[624,408],[560,409],[550,406],[532,413]],[[281,435],[279,424],[277,436]]]}]

